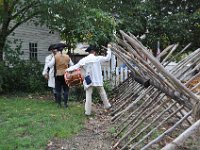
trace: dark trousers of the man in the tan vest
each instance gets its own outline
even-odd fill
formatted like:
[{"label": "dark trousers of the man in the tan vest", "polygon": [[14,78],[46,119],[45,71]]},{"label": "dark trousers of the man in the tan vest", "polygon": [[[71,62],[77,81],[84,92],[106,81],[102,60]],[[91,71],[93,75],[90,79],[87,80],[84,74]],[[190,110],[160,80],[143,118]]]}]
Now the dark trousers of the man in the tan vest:
[{"label": "dark trousers of the man in the tan vest", "polygon": [[64,104],[67,105],[69,87],[65,83],[64,75],[55,78],[56,102],[61,105],[61,91],[63,89]]}]

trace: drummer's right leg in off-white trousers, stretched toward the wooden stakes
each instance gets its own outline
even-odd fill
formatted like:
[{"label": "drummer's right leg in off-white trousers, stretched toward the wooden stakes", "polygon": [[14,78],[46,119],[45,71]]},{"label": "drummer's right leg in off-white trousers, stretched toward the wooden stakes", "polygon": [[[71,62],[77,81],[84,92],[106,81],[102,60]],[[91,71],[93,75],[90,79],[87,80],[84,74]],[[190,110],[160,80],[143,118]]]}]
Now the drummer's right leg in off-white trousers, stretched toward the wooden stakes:
[{"label": "drummer's right leg in off-white trousers, stretched toward the wooden stakes", "polygon": [[106,91],[105,91],[104,87],[103,86],[98,86],[97,90],[99,91],[99,94],[100,94],[101,100],[103,101],[104,107],[106,109],[110,108],[111,104],[108,101],[108,97],[107,97],[107,94],[106,94]]}]

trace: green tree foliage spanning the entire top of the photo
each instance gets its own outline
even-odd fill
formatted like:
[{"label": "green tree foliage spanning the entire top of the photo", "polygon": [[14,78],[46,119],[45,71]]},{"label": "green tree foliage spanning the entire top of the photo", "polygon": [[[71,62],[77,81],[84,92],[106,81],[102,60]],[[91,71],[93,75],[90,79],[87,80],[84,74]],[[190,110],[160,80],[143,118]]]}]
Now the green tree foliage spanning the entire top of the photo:
[{"label": "green tree foliage spanning the entire top of the photo", "polygon": [[153,49],[158,40],[161,48],[200,44],[199,0],[1,0],[0,14],[0,60],[8,35],[30,19],[60,31],[69,49],[77,41],[105,44],[119,29],[149,31],[143,42]]}]

